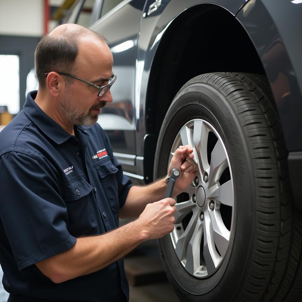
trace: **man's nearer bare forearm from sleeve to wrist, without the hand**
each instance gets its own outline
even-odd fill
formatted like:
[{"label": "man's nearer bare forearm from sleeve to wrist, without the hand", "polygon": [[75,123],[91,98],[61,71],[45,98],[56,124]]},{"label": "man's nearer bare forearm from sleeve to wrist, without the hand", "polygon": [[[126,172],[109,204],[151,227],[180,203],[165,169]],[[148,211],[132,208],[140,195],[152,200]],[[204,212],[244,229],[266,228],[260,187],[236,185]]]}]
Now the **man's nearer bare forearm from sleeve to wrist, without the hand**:
[{"label": "man's nearer bare forearm from sleeve to wrist, without the hand", "polygon": [[146,239],[135,220],[99,236],[80,237],[72,248],[36,265],[53,282],[61,283],[104,268]]}]

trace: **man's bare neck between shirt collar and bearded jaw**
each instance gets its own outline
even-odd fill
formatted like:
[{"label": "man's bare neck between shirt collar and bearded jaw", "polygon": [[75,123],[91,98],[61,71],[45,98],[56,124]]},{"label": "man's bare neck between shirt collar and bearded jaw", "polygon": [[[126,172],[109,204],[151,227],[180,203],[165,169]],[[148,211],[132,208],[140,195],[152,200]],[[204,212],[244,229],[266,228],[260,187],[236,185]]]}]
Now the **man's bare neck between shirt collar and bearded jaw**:
[{"label": "man's bare neck between shirt collar and bearded jaw", "polygon": [[74,125],[70,124],[56,106],[56,99],[43,95],[39,90],[34,100],[36,104],[67,133],[75,135]]}]

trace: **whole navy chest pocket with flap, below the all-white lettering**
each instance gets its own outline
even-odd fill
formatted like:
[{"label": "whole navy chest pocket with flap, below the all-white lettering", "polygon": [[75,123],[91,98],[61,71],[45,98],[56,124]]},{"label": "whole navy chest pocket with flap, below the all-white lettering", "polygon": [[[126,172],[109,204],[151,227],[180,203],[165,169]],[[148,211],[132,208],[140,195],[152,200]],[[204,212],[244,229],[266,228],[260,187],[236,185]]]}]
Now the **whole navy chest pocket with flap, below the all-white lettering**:
[{"label": "whole navy chest pocket with flap, below the all-white lettering", "polygon": [[92,235],[97,223],[91,206],[92,186],[83,177],[61,184],[68,213],[68,231],[72,236]]}]

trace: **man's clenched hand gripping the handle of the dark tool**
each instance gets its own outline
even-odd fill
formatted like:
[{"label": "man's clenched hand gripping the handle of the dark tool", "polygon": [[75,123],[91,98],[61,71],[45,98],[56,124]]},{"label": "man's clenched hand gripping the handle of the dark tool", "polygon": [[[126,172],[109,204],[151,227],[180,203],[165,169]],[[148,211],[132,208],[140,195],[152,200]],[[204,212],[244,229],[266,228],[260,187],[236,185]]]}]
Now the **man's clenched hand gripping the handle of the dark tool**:
[{"label": "man's clenched hand gripping the handle of the dark tool", "polygon": [[136,220],[140,223],[146,239],[158,239],[174,230],[175,203],[174,199],[165,198],[146,205]]}]

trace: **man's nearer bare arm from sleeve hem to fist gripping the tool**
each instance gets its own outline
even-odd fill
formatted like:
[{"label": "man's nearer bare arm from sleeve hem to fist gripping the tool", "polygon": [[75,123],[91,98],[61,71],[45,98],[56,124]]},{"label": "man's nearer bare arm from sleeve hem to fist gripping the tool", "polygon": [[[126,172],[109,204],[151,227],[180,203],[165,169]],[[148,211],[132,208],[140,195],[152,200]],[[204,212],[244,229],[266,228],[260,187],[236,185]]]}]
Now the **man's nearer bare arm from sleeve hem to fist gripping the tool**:
[{"label": "man's nearer bare arm from sleeve hem to fist gripping the tool", "polygon": [[137,220],[102,235],[77,238],[72,248],[37,262],[36,266],[55,283],[98,271],[143,241],[172,232],[174,205],[172,198],[147,204]]}]

